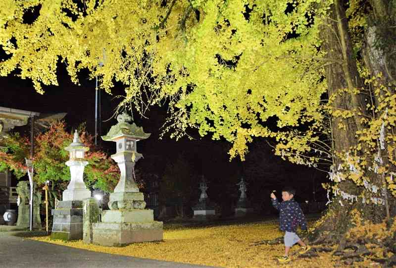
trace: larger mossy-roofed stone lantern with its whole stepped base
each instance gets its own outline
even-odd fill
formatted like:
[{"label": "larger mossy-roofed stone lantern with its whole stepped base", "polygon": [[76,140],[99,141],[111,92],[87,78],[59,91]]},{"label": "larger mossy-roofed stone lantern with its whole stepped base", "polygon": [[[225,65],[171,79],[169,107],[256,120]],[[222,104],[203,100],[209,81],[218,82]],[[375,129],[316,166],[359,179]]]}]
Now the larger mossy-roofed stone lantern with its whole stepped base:
[{"label": "larger mossy-roofed stone lantern with its whole stepped base", "polygon": [[144,195],[135,182],[133,168],[142,155],[136,151],[136,142],[147,139],[150,134],[136,124],[130,124],[127,114],[117,116],[118,123],[111,127],[104,141],[117,144],[117,162],[121,176],[114,192],[110,194],[108,207],[103,211],[101,222],[93,223],[93,243],[102,246],[124,246],[135,242],[160,241],[163,239],[163,223],[155,221],[152,210],[145,209]]}]

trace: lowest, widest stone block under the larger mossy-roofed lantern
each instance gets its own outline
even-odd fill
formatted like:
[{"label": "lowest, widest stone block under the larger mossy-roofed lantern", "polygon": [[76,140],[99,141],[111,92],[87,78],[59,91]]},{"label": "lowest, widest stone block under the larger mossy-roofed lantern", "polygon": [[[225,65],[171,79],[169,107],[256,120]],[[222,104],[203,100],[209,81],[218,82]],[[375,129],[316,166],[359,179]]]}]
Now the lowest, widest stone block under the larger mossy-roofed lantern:
[{"label": "lowest, widest stone block under the larger mossy-roofed lantern", "polygon": [[93,223],[93,243],[121,247],[131,243],[163,240],[162,221]]}]

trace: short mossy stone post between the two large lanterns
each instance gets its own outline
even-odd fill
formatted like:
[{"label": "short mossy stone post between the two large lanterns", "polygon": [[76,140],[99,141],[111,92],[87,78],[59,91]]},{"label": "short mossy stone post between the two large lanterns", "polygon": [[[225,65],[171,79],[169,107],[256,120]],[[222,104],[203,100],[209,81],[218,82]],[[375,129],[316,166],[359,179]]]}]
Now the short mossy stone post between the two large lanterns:
[{"label": "short mossy stone post between the two large lanterns", "polygon": [[95,198],[83,200],[83,242],[92,244],[92,223],[100,221],[100,209]]}]

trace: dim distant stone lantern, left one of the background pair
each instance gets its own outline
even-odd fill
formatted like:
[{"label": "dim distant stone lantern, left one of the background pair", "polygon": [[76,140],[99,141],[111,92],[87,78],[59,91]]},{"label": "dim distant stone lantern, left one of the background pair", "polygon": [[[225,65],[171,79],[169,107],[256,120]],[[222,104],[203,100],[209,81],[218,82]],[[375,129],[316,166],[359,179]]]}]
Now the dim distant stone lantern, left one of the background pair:
[{"label": "dim distant stone lantern, left one of the background pair", "polygon": [[203,175],[199,183],[199,189],[201,190],[201,194],[198,203],[192,208],[194,211],[193,219],[207,220],[216,217],[215,204],[209,200],[206,194],[208,187]]}]

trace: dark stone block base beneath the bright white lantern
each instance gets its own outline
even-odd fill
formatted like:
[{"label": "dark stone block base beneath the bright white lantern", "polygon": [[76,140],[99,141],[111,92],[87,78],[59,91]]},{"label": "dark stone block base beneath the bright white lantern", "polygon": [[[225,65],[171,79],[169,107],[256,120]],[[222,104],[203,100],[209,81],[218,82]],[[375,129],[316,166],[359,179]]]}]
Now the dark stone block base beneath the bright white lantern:
[{"label": "dark stone block base beneath the bright white lantern", "polygon": [[83,202],[59,201],[53,215],[51,239],[80,240],[83,238]]}]

